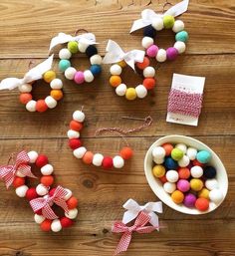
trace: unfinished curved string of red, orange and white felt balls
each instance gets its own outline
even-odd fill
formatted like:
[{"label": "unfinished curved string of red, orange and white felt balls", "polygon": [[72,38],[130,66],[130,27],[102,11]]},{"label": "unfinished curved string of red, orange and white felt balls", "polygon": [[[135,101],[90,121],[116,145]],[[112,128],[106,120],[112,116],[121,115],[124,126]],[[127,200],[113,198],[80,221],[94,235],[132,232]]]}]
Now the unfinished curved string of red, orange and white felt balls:
[{"label": "unfinished curved string of red, orange and white felt balls", "polygon": [[73,150],[74,156],[82,159],[86,164],[102,166],[105,169],[122,168],[124,161],[131,158],[133,151],[129,146],[124,146],[114,157],[106,156],[102,153],[89,151],[80,139],[80,131],[84,127],[85,114],[82,111],[76,111],[73,114],[73,121],[70,123],[70,129],[67,131],[69,137],[69,146]]}]

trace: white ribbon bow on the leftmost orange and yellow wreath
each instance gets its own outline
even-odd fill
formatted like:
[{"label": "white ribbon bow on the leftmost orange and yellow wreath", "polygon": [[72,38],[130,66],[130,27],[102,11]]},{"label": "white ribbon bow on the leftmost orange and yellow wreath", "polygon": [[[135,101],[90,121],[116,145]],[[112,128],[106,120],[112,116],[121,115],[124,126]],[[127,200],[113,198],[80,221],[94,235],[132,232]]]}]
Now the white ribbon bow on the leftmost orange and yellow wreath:
[{"label": "white ribbon bow on the leftmost orange and yellow wreath", "polygon": [[29,70],[23,79],[17,78],[7,78],[1,81],[0,90],[13,90],[24,84],[31,83],[33,81],[42,79],[43,74],[52,68],[54,55],[51,55],[46,61],[35,66],[33,69]]}]

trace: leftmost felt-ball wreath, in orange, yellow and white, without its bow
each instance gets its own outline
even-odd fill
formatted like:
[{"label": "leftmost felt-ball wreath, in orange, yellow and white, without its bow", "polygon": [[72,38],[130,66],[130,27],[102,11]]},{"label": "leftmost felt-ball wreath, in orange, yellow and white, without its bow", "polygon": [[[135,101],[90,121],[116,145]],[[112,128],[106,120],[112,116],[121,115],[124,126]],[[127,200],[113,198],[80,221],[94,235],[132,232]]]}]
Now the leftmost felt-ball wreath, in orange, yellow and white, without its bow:
[{"label": "leftmost felt-ball wreath, in orange, yellow and white, without its bow", "polygon": [[43,75],[43,80],[50,84],[51,93],[45,99],[38,101],[33,100],[32,90],[34,83],[24,84],[19,87],[20,91],[20,102],[26,106],[26,110],[29,112],[46,112],[48,109],[54,109],[57,106],[57,102],[63,98],[63,83],[60,79],[56,78],[54,71],[47,71]]}]

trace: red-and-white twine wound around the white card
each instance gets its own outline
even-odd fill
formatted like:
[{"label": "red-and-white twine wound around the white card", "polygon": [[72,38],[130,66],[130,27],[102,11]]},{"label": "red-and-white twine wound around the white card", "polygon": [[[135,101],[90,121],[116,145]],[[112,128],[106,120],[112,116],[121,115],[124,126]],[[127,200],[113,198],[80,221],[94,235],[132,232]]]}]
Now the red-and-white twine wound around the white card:
[{"label": "red-and-white twine wound around the white card", "polygon": [[167,112],[198,118],[201,113],[202,95],[171,89]]}]

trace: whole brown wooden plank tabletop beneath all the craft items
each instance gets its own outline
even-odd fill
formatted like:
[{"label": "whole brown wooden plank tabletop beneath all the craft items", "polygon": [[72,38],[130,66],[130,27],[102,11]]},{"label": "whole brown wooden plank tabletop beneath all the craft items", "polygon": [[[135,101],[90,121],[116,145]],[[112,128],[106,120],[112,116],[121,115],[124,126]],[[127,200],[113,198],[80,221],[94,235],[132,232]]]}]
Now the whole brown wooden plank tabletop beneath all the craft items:
[{"label": "whole brown wooden plank tabletop beneath all the craft items", "polygon": [[[173,2],[173,1],[172,1]],[[22,77],[30,60],[47,57],[51,37],[58,32],[74,33],[78,28],[94,32],[105,53],[109,38],[125,50],[141,48],[141,32],[128,35],[134,19],[144,8],[161,10],[156,0],[1,0],[0,79]],[[24,199],[0,183],[0,255],[112,255],[119,235],[111,232],[114,220],[121,218],[121,205],[128,198],[139,203],[157,200],[143,172],[148,146],[158,137],[178,133],[196,137],[211,146],[223,160],[229,191],[216,211],[204,216],[188,216],[164,205],[160,219],[166,228],[149,235],[134,234],[123,255],[233,256],[235,255],[235,2],[234,0],[191,0],[182,17],[190,40],[186,54],[165,63],[157,71],[154,94],[143,101],[126,102],[109,86],[109,66],[92,85],[76,86],[65,81],[65,97],[59,106],[45,114],[31,114],[18,103],[18,92],[0,93],[0,162],[5,164],[12,151],[21,148],[46,153],[56,168],[59,184],[69,187],[80,199],[77,224],[59,234],[43,233],[34,223],[32,210]],[[168,33],[160,33],[162,46],[173,43]],[[59,48],[58,48],[59,49]],[[74,63],[87,67],[80,57]],[[54,63],[57,69],[57,60]],[[173,73],[205,76],[203,110],[197,128],[165,122],[167,96]],[[64,79],[63,75],[60,77]],[[135,85],[131,73],[124,80]],[[36,90],[36,97],[48,89]],[[116,153],[119,137],[103,134],[101,127],[135,127],[139,122],[122,116],[144,118],[150,115],[150,128],[127,137],[135,156],[124,169],[105,171],[84,165],[73,157],[66,132],[72,113],[85,106],[87,126],[83,130],[88,148]]]}]

